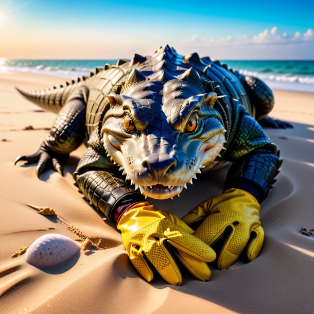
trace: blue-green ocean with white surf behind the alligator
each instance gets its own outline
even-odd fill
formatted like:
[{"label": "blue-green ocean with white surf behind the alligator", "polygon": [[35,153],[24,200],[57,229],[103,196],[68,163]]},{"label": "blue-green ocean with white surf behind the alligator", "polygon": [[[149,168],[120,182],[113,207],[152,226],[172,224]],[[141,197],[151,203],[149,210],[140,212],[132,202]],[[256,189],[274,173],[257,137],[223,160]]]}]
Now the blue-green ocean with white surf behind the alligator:
[{"label": "blue-green ocean with white surf behind the alligator", "polygon": [[[117,60],[0,59],[1,72],[34,73],[76,78],[97,66]],[[245,75],[263,79],[272,89],[314,93],[314,60],[223,60],[221,63]]]}]

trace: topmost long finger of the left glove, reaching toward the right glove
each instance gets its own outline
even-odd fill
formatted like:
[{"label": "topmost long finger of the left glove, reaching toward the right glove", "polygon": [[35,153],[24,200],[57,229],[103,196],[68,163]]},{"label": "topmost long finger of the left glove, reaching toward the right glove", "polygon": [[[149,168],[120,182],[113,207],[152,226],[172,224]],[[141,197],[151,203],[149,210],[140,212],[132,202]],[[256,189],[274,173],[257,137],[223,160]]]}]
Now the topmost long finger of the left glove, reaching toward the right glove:
[{"label": "topmost long finger of the left glove, reaching toward the right glove", "polygon": [[181,232],[167,230],[164,234],[169,243],[179,251],[206,262],[213,261],[216,258],[216,253],[211,247],[184,230],[181,230]]}]

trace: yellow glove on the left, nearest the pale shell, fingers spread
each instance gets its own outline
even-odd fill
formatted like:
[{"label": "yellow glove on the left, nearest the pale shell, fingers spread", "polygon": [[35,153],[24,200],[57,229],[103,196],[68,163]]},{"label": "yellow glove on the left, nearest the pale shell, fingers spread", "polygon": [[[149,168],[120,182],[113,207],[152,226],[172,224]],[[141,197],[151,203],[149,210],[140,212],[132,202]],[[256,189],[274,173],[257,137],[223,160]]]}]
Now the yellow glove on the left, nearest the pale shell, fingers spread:
[{"label": "yellow glove on the left, nearest the pale shell, fingers spread", "polygon": [[194,231],[177,216],[139,202],[120,216],[117,228],[132,264],[148,282],[153,278],[153,266],[167,283],[181,285],[182,275],[173,254],[199,280],[210,278],[205,262],[213,261],[216,253],[193,236]]}]

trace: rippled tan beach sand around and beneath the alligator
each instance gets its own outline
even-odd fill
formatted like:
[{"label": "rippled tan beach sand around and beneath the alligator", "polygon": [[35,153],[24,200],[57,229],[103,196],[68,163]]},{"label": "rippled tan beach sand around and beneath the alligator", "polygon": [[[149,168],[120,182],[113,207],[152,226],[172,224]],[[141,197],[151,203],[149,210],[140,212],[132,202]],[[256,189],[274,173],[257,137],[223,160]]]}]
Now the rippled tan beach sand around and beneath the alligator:
[{"label": "rippled tan beach sand around and beneath the alligator", "polygon": [[[35,152],[55,115],[27,102],[13,86],[41,89],[64,79],[27,74],[0,74],[0,312],[1,313],[310,313],[313,312],[314,238],[314,94],[275,91],[272,117],[294,129],[266,129],[284,160],[277,182],[261,205],[266,238],[260,256],[239,260],[211,280],[197,281],[183,270],[174,287],[156,277],[140,277],[125,252],[119,232],[86,202],[72,173],[85,147],[71,153],[64,177],[36,166],[14,166],[16,156]],[[32,126],[33,130],[23,130]],[[173,201],[152,201],[183,216],[201,200],[222,190],[228,168],[199,179]],[[54,208],[44,216],[27,204]],[[72,225],[72,230],[67,226]],[[102,240],[102,249],[72,259],[63,268],[44,272],[11,258],[38,237],[58,233],[78,238],[74,230]]]}]

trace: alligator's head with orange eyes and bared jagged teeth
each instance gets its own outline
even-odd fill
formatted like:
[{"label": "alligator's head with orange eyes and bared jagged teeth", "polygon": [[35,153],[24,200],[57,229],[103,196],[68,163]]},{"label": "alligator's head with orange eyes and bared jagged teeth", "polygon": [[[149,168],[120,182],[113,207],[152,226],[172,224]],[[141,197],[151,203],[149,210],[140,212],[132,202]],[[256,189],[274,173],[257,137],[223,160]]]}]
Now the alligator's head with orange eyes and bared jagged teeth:
[{"label": "alligator's head with orange eyes and bared jagged teeth", "polygon": [[[219,97],[219,96],[218,96]],[[194,69],[146,77],[133,69],[119,94],[108,96],[104,148],[144,196],[179,195],[225,143],[216,93],[205,93]]]}]

